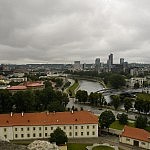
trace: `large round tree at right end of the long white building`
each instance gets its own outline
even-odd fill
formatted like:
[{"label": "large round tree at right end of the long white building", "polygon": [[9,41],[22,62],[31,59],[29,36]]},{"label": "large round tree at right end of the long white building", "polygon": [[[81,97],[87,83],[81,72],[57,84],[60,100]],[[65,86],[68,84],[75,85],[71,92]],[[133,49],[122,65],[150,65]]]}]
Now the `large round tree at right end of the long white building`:
[{"label": "large round tree at right end of the long white building", "polygon": [[108,128],[115,121],[115,115],[110,110],[101,113],[99,117],[99,124],[101,128]]}]

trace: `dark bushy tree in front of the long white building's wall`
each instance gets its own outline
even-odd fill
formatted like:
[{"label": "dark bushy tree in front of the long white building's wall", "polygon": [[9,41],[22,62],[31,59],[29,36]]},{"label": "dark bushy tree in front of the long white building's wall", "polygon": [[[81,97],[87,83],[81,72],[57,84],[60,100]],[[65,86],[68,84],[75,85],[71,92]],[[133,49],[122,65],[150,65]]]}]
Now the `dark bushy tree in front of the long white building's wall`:
[{"label": "dark bushy tree in front of the long white building's wall", "polygon": [[65,144],[68,142],[66,133],[59,127],[50,134],[50,142],[56,142],[57,145]]}]

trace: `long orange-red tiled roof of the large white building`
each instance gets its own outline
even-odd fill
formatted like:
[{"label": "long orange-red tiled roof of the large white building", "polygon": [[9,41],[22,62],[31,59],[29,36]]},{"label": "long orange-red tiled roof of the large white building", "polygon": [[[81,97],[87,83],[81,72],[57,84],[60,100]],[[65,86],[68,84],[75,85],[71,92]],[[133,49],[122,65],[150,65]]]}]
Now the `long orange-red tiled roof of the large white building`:
[{"label": "long orange-red tiled roof of the large white building", "polygon": [[98,117],[87,111],[0,114],[0,126],[97,124]]}]

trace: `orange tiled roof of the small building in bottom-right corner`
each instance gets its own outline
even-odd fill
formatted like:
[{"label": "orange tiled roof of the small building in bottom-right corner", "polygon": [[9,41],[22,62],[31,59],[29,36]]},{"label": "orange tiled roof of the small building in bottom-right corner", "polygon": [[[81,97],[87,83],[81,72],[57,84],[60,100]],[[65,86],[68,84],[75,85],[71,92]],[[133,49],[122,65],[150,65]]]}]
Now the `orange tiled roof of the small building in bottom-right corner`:
[{"label": "orange tiled roof of the small building in bottom-right corner", "polygon": [[137,139],[140,141],[150,142],[150,132],[145,131],[144,129],[125,126],[121,136]]}]

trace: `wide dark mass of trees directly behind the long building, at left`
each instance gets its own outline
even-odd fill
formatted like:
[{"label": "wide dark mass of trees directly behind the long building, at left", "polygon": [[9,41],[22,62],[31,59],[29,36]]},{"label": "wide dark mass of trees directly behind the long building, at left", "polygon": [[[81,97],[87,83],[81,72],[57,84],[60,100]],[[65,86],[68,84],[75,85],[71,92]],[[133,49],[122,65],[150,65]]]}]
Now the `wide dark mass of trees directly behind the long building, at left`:
[{"label": "wide dark mass of trees directly behind the long building, at left", "polygon": [[67,94],[54,91],[49,82],[45,89],[37,91],[18,91],[14,94],[8,90],[0,90],[0,113],[65,111],[69,99]]}]

